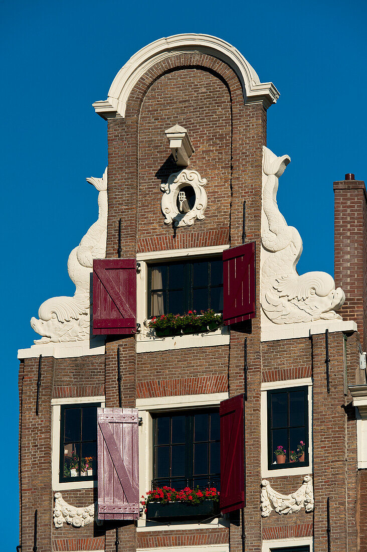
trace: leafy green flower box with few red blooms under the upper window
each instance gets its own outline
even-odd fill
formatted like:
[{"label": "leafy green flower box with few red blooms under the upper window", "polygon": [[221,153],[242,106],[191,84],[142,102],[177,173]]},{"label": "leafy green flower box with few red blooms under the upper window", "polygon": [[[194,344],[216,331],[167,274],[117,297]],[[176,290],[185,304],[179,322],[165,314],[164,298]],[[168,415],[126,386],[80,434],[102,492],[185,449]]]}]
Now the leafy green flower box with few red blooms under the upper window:
[{"label": "leafy green flower box with few red blooms under the upper window", "polygon": [[180,333],[209,332],[216,330],[222,323],[222,315],[208,309],[201,311],[201,314],[190,310],[183,315],[169,313],[158,317],[153,316],[148,326],[155,330],[157,336],[164,337]]}]

